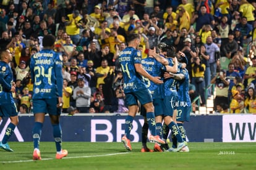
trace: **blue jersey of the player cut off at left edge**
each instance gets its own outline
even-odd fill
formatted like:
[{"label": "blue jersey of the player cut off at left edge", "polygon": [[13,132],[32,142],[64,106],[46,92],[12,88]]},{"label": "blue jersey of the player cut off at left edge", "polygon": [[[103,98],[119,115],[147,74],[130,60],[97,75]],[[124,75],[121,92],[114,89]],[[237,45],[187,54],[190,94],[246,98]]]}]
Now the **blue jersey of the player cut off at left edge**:
[{"label": "blue jersey of the player cut off at left edge", "polygon": [[15,103],[12,98],[12,69],[6,62],[0,61],[0,105]]}]

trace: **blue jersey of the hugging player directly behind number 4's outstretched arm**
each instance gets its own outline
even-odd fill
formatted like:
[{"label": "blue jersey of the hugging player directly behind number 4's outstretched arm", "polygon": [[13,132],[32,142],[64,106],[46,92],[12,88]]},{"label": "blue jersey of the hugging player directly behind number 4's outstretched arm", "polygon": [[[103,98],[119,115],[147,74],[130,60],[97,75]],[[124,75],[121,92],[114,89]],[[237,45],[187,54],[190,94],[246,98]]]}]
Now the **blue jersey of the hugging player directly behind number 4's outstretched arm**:
[{"label": "blue jersey of the hugging player directly behind number 4's outstretched arm", "polygon": [[[142,60],[143,68],[150,74],[151,76],[161,76],[162,71],[166,71],[166,67],[158,62],[153,57],[147,57],[146,59]],[[152,98],[153,99],[163,99],[163,84],[155,84],[153,81],[150,81],[148,78],[144,78],[145,84],[147,85]]]}]

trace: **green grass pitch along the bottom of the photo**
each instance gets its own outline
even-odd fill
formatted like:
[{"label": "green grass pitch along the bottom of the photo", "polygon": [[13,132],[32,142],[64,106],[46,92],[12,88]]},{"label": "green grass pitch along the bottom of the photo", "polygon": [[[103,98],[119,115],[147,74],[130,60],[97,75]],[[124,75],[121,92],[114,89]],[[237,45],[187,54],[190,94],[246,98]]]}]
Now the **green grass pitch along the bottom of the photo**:
[{"label": "green grass pitch along the bottom of the photo", "polygon": [[[256,144],[189,143],[189,153],[141,153],[132,142],[132,152],[122,143],[63,142],[69,155],[55,159],[54,142],[41,142],[41,161],[32,161],[32,142],[9,142],[14,152],[0,149],[0,169],[256,169]],[[152,143],[148,147],[153,148]]]}]

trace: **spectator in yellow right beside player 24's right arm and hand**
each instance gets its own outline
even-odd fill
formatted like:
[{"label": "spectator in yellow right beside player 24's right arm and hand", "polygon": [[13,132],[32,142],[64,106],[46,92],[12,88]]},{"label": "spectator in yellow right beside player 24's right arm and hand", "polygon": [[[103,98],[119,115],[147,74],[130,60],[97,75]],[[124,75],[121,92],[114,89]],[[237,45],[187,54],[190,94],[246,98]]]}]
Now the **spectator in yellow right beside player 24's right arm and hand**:
[{"label": "spectator in yellow right beside player 24's right arm and hand", "polygon": [[62,91],[63,106],[62,106],[62,112],[64,112],[64,113],[68,113],[67,109],[70,107],[70,96],[72,94],[72,89],[71,89],[71,87],[67,86],[67,83],[68,83],[67,79],[63,79],[63,91]]}]

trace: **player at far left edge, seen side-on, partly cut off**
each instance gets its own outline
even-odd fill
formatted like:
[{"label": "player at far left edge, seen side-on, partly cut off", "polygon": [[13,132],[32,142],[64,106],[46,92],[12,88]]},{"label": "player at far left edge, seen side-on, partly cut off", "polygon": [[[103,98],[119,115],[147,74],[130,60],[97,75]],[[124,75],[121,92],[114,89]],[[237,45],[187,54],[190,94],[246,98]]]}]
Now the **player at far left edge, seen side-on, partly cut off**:
[{"label": "player at far left edge, seen side-on, partly cut off", "polygon": [[9,62],[12,61],[12,54],[6,49],[0,52],[0,57],[0,122],[2,117],[9,117],[11,119],[11,123],[6,128],[4,138],[0,142],[0,148],[13,152],[14,150],[7,144],[7,140],[12,136],[15,127],[19,123],[19,118],[17,107],[12,98],[12,92],[15,92],[15,84],[12,83],[12,69],[9,67]]}]

